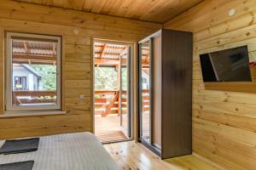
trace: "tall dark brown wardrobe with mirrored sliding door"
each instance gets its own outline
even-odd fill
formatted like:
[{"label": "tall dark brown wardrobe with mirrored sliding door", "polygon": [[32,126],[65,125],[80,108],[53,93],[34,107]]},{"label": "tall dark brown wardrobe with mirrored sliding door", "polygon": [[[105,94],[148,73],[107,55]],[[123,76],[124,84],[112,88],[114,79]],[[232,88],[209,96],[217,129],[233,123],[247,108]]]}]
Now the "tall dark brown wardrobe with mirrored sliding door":
[{"label": "tall dark brown wardrobe with mirrored sliding door", "polygon": [[160,30],[139,45],[139,140],[161,158],[192,153],[192,33]]}]

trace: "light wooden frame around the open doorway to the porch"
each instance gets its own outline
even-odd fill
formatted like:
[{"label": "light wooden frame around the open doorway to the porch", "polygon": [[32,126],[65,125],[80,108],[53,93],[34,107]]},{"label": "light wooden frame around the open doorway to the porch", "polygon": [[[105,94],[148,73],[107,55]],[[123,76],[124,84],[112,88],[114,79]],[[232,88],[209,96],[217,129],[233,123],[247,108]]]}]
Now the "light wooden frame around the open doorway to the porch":
[{"label": "light wooden frame around the open doorway to the porch", "polygon": [[136,65],[136,62],[137,62],[137,59],[136,59],[136,54],[135,54],[135,49],[136,49],[136,43],[135,42],[122,42],[122,41],[118,41],[118,40],[106,40],[106,39],[101,39],[101,38],[92,38],[92,41],[91,41],[91,47],[92,47],[92,54],[91,54],[91,64],[92,64],[92,69],[91,69],[91,76],[92,76],[92,88],[91,88],[91,92],[92,92],[92,95],[91,95],[91,101],[92,101],[92,112],[93,112],[93,116],[92,116],[92,133],[95,133],[95,107],[94,107],[94,104],[95,104],[95,88],[94,88],[94,84],[95,84],[95,59],[94,59],[94,44],[95,42],[102,42],[102,43],[113,43],[113,44],[117,44],[117,45],[126,45],[126,46],[129,46],[130,49],[131,49],[131,56],[130,56],[130,71],[129,71],[129,74],[130,74],[130,105],[129,105],[129,108],[130,108],[130,139],[135,139],[135,114],[136,113],[136,108],[135,108],[135,105],[136,105],[136,99],[135,99],[135,96],[136,96],[136,87],[134,86],[134,84],[136,84],[136,72],[135,72],[135,65]]}]

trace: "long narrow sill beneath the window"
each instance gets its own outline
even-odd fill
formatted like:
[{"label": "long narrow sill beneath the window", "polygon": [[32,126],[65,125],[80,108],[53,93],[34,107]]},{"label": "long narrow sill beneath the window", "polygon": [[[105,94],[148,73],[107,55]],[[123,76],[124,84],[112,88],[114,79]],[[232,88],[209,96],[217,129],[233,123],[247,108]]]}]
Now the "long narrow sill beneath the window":
[{"label": "long narrow sill beneath the window", "polygon": [[63,115],[67,114],[66,111],[5,111],[2,117],[15,117],[15,116],[44,116],[44,115]]}]

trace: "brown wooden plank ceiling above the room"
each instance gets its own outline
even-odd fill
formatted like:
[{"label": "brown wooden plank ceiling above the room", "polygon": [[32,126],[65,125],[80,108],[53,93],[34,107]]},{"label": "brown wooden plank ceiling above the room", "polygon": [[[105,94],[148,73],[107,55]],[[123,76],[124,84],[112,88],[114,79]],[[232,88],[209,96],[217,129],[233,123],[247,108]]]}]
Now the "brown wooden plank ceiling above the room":
[{"label": "brown wooden plank ceiling above the room", "polygon": [[164,23],[202,0],[17,0]]}]

